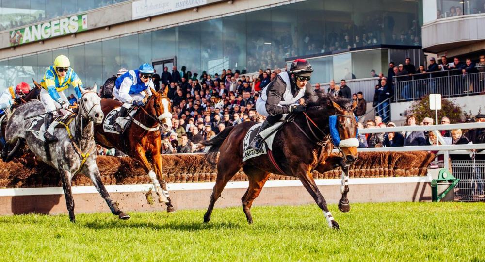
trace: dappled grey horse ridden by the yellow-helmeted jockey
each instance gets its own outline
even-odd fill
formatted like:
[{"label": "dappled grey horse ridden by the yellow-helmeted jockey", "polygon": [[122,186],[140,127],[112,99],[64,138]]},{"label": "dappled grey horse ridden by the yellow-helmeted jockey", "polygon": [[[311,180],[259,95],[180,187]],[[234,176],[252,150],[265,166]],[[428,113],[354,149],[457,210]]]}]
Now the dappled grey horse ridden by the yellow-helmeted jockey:
[{"label": "dappled grey horse ridden by the yellow-helmeted jockey", "polygon": [[[54,129],[54,135],[58,138],[57,142],[45,145],[45,142],[36,138],[31,131],[26,131],[32,121],[35,121],[35,118],[24,120],[26,117],[46,112],[44,105],[38,100],[32,100],[16,109],[7,124],[5,139],[9,144],[16,143],[18,139],[24,139],[37,159],[59,171],[65,202],[69,211],[69,219],[72,222],[76,218],[74,216],[71,179],[77,173],[89,176],[97,191],[108,203],[113,214],[118,215],[120,219],[129,219],[129,215],[123,213],[110,198],[108,191],[101,182],[101,176],[96,164],[97,153],[93,126],[94,124],[101,124],[104,117],[100,106],[101,98],[96,93],[97,87],[96,85],[93,87],[94,91],[80,89],[82,97],[78,100],[78,115],[74,117],[74,120],[68,122],[67,126],[69,129],[63,126]],[[72,139],[69,138],[68,130],[72,135]],[[47,150],[49,150],[49,154],[46,153]]]}]

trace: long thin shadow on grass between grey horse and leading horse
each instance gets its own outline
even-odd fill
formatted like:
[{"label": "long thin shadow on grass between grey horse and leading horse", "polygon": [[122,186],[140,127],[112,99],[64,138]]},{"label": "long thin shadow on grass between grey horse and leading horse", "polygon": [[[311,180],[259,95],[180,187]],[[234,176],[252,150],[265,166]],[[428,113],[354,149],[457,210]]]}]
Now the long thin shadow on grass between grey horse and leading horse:
[{"label": "long thin shadow on grass between grey horse and leading horse", "polygon": [[102,230],[102,229],[112,229],[112,228],[132,228],[132,229],[156,229],[156,230],[179,230],[179,231],[203,231],[210,229],[240,229],[243,225],[241,223],[234,223],[231,221],[224,222],[210,222],[204,224],[202,222],[166,222],[166,223],[152,223],[152,222],[127,222],[113,220],[113,221],[92,221],[82,223],[90,229]]}]

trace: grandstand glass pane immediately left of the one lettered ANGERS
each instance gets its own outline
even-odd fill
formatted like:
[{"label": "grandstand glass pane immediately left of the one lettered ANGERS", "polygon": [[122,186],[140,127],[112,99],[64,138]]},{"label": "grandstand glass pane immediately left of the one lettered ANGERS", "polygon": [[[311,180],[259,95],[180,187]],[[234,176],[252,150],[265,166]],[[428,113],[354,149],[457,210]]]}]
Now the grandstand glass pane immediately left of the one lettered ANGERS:
[{"label": "grandstand glass pane immediately left of the one lettered ANGERS", "polygon": [[224,68],[246,68],[246,15],[222,18]]}]

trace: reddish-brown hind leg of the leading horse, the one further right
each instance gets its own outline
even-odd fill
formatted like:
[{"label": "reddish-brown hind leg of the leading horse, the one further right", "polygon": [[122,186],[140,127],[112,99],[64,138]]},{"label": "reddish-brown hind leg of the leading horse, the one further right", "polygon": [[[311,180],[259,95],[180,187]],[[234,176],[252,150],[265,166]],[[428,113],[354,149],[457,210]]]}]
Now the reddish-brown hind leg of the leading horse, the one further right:
[{"label": "reddish-brown hind leg of the leading horse, the one further right", "polygon": [[246,215],[247,222],[252,224],[253,217],[251,216],[251,206],[253,204],[253,200],[259,196],[259,193],[261,193],[261,189],[270,177],[270,174],[254,167],[243,167],[243,170],[249,180],[249,187],[244,196],[241,198],[242,211],[244,211],[244,214]]}]

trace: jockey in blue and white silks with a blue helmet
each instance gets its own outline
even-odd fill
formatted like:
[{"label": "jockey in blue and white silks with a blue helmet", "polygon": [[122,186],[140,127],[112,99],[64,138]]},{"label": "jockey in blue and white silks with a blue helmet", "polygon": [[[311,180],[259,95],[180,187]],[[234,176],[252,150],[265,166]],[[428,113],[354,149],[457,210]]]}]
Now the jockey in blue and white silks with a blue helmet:
[{"label": "jockey in blue and white silks with a blue helmet", "polygon": [[126,117],[131,106],[143,106],[145,95],[152,95],[151,88],[155,86],[152,81],[153,74],[153,66],[145,63],[138,70],[129,70],[116,79],[113,94],[123,103],[118,117],[113,117],[116,119],[113,127],[117,132],[122,132],[120,117]]}]

